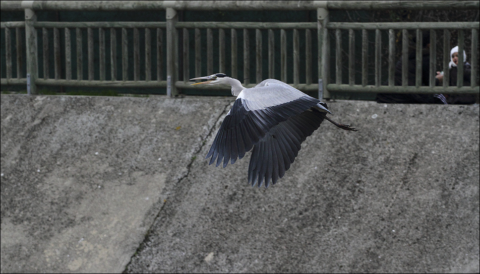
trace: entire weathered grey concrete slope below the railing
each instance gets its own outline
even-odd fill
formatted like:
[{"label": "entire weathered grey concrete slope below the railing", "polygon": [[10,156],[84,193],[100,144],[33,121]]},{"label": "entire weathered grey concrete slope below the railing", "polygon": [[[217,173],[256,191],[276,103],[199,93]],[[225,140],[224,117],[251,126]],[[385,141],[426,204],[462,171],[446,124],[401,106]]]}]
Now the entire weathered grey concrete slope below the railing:
[{"label": "entire weathered grey concrete slope below the railing", "polygon": [[2,272],[480,270],[478,105],[331,102],[265,190],[203,160],[233,98],[1,98]]}]

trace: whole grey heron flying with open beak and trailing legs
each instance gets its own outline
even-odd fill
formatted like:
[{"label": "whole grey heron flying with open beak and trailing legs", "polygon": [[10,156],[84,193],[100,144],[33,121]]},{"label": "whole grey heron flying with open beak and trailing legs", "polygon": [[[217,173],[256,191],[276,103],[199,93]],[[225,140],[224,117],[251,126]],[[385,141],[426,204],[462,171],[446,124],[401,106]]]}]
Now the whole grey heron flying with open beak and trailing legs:
[{"label": "whole grey heron flying with open beak and trailing legs", "polygon": [[252,150],[249,164],[249,183],[260,188],[275,184],[285,175],[302,142],[315,131],[322,121],[333,123],[345,130],[355,128],[334,122],[326,116],[331,112],[327,104],[275,79],[267,79],[247,89],[240,81],[222,73],[192,80],[195,83],[227,84],[236,97],[232,108],[223,120],[207,154],[209,165],[216,161],[223,167],[242,159]]}]

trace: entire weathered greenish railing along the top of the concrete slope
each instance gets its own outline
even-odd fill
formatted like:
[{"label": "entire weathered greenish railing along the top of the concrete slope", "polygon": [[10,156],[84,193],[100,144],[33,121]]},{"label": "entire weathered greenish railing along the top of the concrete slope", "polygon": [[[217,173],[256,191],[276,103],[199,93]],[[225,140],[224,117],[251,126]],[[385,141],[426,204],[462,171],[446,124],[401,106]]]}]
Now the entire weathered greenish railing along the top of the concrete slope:
[{"label": "entire weathered greenish railing along the top of the concrete slope", "polygon": [[[329,22],[329,10],[478,10],[479,6],[478,1],[22,1],[20,7],[18,2],[4,1],[1,6],[2,11],[21,9],[25,11],[25,21],[0,23],[0,27],[5,32],[5,41],[2,43],[5,43],[6,49],[5,58],[2,57],[2,63],[5,62],[5,73],[2,73],[0,84],[27,85],[29,94],[37,93],[37,85],[46,85],[158,87],[166,88],[169,96],[175,96],[182,89],[192,88],[189,78],[205,75],[202,71],[204,66],[202,66],[201,56],[206,53],[206,75],[229,71],[230,75],[236,78],[241,73],[239,70],[243,70],[244,78],[248,78],[244,80],[246,87],[255,85],[251,83],[253,79],[256,83],[261,82],[263,75],[268,71],[269,78],[277,78],[283,82],[292,79],[290,85],[302,91],[318,91],[320,98],[330,98],[332,92],[338,91],[478,94],[478,50],[476,50],[478,22]],[[165,22],[39,22],[36,19],[36,13],[42,11],[139,10],[165,10]],[[314,10],[317,11],[317,22],[179,22],[178,10]],[[458,77],[456,86],[448,86],[448,81],[444,81],[443,86],[435,86],[437,67],[435,46],[430,52],[429,86],[422,86],[418,81],[422,74],[421,58],[417,58],[415,86],[407,85],[406,73],[402,74],[402,86],[394,86],[395,32],[402,33],[403,64],[406,63],[408,54],[408,33],[419,38],[416,46],[417,56],[421,56],[422,51],[422,30],[429,30],[433,41],[436,41],[437,33],[443,33],[445,46],[441,67],[448,79],[450,31],[453,29],[458,30],[459,52],[462,52],[465,46],[463,43],[465,35],[471,35],[472,81],[470,86],[463,85],[462,77]],[[287,35],[287,32],[291,35]],[[348,32],[347,43],[342,39],[344,32]],[[375,33],[373,62],[368,60],[367,54],[368,37],[372,32]],[[388,32],[388,37],[382,35],[383,32]],[[253,33],[255,33],[255,43],[250,42]],[[49,38],[51,36],[53,39]],[[129,39],[131,37],[133,42],[129,42],[132,40]],[[242,37],[242,40],[239,40],[239,37]],[[267,37],[266,41],[264,37]],[[85,38],[87,54],[83,48]],[[213,46],[214,38],[218,40],[218,43],[215,43],[218,48]],[[385,50],[382,48],[382,40],[385,38],[388,39],[386,71],[381,60],[381,52]],[[192,39],[195,41],[193,50],[190,49]],[[292,43],[291,51],[287,50],[287,39],[288,43]],[[355,47],[355,39],[362,40],[360,48]],[[206,52],[202,51],[204,40],[206,40]],[[280,46],[275,44],[278,40]],[[39,43],[40,51],[37,50]],[[229,44],[230,48],[226,48],[226,44]],[[255,47],[251,44],[255,44]],[[301,48],[300,45],[304,47]],[[346,45],[348,45],[347,54],[342,54]],[[279,51],[276,50],[278,48]],[[129,50],[133,50],[133,60],[128,57]],[[52,51],[53,56],[50,54]],[[335,70],[331,71],[330,52],[332,51],[335,53],[333,57]],[[251,54],[255,54],[255,58],[251,58]],[[289,54],[291,54],[291,63],[287,62]],[[355,56],[358,55],[361,55],[359,62],[355,60]],[[278,58],[280,75],[275,74],[275,61]],[[255,71],[251,71],[252,59],[256,62]],[[459,54],[459,59],[461,63],[462,54]],[[23,60],[26,61],[25,66]],[[121,63],[118,63],[118,60],[121,60]],[[191,64],[192,60],[194,64]],[[264,60],[268,60],[266,62],[268,68],[264,67]],[[300,67],[301,63],[304,67]],[[84,65],[87,67],[84,68]],[[133,75],[129,74],[129,65],[134,67]],[[3,64],[2,67],[4,67]],[[39,75],[40,67],[43,68],[43,75]],[[52,72],[50,67],[53,67]],[[218,71],[214,71],[214,68],[218,68]],[[402,70],[406,71],[406,65]],[[374,74],[374,83],[369,83],[368,75],[371,71]],[[301,74],[301,72],[304,73]],[[343,77],[344,73],[348,77]],[[386,83],[382,83],[382,74],[388,75]],[[463,75],[463,67],[459,66],[458,74]],[[252,75],[255,77],[250,77]],[[223,89],[215,86],[207,88]]]}]

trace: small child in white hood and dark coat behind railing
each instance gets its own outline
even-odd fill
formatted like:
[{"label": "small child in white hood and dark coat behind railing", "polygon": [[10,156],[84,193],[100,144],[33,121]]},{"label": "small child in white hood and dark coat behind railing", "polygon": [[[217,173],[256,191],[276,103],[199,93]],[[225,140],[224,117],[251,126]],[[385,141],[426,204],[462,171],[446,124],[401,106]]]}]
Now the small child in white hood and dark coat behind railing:
[{"label": "small child in white hood and dark coat behind railing", "polygon": [[[449,86],[457,85],[457,73],[458,73],[458,46],[453,47],[450,50],[450,62],[449,67]],[[443,72],[437,72],[437,83],[443,84]],[[471,83],[471,65],[467,62],[467,54],[463,51],[463,86],[470,86]],[[475,96],[473,94],[458,94],[458,95],[445,95],[449,104],[474,104]]]}]

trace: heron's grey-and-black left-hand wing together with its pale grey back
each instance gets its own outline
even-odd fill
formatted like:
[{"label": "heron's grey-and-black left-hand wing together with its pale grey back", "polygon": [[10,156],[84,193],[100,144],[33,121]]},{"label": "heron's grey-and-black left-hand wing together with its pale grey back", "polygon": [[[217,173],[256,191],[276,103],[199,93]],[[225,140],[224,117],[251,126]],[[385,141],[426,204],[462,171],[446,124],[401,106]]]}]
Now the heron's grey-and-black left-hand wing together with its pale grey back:
[{"label": "heron's grey-and-black left-hand wing together with its pale grey back", "polygon": [[222,160],[223,167],[228,162],[233,164],[236,159],[242,159],[275,125],[319,103],[318,99],[272,79],[245,89],[223,120],[205,158],[212,157],[209,164],[216,160],[216,166]]}]

